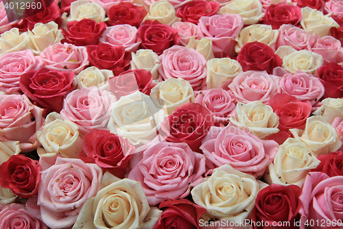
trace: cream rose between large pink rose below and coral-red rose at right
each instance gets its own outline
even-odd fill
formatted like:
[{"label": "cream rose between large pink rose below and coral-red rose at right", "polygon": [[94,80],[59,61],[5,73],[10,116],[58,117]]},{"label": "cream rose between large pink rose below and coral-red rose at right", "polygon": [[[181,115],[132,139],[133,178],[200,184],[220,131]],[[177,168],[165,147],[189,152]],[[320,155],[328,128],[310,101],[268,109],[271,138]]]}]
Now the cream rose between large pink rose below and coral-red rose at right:
[{"label": "cream rose between large pink rose below and coral-red rose at right", "polygon": [[248,129],[260,139],[279,132],[279,117],[272,107],[264,105],[261,100],[244,104],[237,102],[236,116],[229,120],[240,129]]}]

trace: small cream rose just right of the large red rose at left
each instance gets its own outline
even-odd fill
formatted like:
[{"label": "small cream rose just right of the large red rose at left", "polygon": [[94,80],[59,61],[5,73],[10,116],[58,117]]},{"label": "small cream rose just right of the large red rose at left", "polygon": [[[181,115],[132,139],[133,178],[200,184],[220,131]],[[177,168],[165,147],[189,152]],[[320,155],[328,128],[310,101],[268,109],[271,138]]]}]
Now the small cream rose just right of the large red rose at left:
[{"label": "small cream rose just right of the large red rose at left", "polygon": [[113,72],[107,69],[98,69],[97,67],[87,67],[75,77],[78,89],[81,87],[99,87],[106,90],[108,80],[114,77]]}]

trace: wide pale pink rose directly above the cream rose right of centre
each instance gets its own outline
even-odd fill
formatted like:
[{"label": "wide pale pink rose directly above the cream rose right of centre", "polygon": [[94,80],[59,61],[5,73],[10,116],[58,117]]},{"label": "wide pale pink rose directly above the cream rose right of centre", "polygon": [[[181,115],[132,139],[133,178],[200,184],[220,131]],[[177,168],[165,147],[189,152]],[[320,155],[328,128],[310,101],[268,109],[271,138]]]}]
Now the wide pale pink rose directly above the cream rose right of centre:
[{"label": "wide pale pink rose directly above the cream rose right of centre", "polygon": [[279,77],[267,72],[248,71],[233,78],[228,88],[235,94],[237,102],[248,103],[261,100],[268,104],[270,98],[280,92]]}]

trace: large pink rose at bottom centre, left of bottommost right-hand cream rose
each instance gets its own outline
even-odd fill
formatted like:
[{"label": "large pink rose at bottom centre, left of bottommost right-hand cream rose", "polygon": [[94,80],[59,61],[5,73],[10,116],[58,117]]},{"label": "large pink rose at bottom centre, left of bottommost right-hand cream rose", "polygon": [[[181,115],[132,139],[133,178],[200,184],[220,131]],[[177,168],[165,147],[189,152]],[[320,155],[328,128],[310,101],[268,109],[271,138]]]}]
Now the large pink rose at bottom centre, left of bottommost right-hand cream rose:
[{"label": "large pink rose at bottom centre, left of bottommost right-hand cream rose", "polygon": [[147,202],[153,206],[167,199],[182,199],[202,182],[205,157],[186,143],[159,142],[143,152],[128,174],[141,182]]}]

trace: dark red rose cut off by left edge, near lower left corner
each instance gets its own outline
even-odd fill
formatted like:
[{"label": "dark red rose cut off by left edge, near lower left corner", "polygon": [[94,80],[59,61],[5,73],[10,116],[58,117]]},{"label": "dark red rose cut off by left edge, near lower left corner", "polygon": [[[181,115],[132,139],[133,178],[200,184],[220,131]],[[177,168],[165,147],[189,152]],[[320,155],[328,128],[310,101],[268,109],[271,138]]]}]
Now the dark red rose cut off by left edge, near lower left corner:
[{"label": "dark red rose cut off by left edge, near lower left corner", "polygon": [[40,166],[23,155],[13,155],[0,165],[0,186],[11,188],[15,195],[29,198],[38,192]]}]

